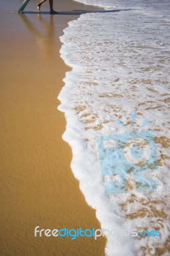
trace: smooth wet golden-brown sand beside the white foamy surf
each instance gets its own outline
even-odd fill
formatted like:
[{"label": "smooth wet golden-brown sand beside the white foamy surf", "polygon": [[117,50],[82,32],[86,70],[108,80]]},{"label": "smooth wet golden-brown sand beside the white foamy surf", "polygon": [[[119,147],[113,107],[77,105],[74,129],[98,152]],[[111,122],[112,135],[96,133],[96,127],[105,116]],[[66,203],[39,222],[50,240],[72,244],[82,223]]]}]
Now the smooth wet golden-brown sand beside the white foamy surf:
[{"label": "smooth wet golden-brown sand beside the white foamy surf", "polygon": [[[34,228],[100,228],[70,169],[62,140],[65,116],[58,94],[69,70],[59,56],[67,22],[78,15],[36,12],[31,1],[2,1],[1,12],[1,256],[104,255],[105,238],[34,237]],[[48,10],[49,3],[42,6]],[[54,0],[61,11],[97,10]]]}]

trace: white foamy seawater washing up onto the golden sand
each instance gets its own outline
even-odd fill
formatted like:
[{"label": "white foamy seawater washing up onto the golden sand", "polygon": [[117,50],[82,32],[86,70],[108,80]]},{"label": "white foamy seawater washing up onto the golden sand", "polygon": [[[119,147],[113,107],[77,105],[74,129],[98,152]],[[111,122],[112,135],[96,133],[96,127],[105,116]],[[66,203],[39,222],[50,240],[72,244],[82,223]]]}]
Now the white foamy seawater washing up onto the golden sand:
[{"label": "white foamy seawater washing up onto the golden sand", "polygon": [[[102,228],[117,230],[107,236],[107,255],[169,255],[168,1],[150,1],[150,6],[146,1],[82,2],[109,10],[114,3],[122,11],[81,15],[61,36],[61,56],[72,71],[66,73],[58,98],[66,116],[63,139],[72,147],[73,173],[86,201],[97,209]],[[105,194],[108,180],[102,178],[97,138],[132,131],[132,110],[137,111],[136,129],[153,119],[142,131],[155,131],[158,169],[147,177],[157,180],[158,189],[137,191],[135,177],[129,175],[127,193]],[[118,118],[127,129],[117,124]],[[157,229],[161,237],[121,235],[135,228]]]}]

